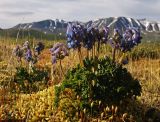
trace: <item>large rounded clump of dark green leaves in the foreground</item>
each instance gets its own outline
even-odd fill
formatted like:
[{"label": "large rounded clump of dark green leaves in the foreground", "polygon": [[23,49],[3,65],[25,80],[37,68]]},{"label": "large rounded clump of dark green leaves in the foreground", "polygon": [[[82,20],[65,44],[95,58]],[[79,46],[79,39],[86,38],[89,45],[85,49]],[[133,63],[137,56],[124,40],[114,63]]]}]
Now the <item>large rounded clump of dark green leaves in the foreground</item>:
[{"label": "large rounded clump of dark green leaves in the foreground", "polygon": [[65,98],[66,89],[71,89],[77,96],[72,98],[73,101],[80,100],[79,110],[91,110],[90,114],[96,114],[107,105],[120,105],[133,96],[140,96],[139,81],[134,79],[126,68],[113,62],[109,57],[86,58],[83,63],[84,66],[77,65],[69,70],[62,84],[56,86],[57,107],[59,101]]}]

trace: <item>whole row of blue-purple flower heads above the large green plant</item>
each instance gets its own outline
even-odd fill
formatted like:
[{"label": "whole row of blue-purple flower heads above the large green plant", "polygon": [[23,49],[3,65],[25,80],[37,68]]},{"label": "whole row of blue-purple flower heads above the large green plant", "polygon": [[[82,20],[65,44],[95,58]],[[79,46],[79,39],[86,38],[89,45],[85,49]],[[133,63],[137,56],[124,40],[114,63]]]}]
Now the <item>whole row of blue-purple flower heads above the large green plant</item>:
[{"label": "whole row of blue-purple flower heads above the large green plant", "polygon": [[92,49],[96,41],[100,43],[109,43],[113,48],[118,48],[122,52],[130,51],[135,45],[141,42],[140,30],[137,28],[128,28],[121,34],[119,29],[114,29],[112,38],[109,39],[109,28],[104,26],[101,29],[94,28],[92,24],[86,27],[79,23],[68,23],[67,27],[67,46],[68,48],[83,47]]}]

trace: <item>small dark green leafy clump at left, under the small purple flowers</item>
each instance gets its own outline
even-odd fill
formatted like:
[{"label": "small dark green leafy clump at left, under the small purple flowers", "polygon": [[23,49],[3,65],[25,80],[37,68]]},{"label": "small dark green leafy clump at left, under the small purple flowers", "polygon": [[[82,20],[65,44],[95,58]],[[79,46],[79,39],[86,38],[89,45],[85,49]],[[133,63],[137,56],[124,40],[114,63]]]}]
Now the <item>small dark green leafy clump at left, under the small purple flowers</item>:
[{"label": "small dark green leafy clump at left, under the small purple flowers", "polygon": [[17,67],[13,81],[19,86],[21,92],[37,92],[46,88],[48,71],[33,67],[32,71],[29,72],[27,68]]}]

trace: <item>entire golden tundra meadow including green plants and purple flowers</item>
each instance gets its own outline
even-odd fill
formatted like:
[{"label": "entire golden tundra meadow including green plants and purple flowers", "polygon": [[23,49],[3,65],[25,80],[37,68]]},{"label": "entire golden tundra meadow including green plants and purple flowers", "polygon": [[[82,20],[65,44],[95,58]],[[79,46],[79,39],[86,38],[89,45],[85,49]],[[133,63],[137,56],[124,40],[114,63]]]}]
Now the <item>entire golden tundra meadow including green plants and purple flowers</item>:
[{"label": "entire golden tundra meadow including green plants and purple flowers", "polygon": [[143,36],[69,23],[67,41],[1,38],[0,120],[160,121],[160,42]]}]

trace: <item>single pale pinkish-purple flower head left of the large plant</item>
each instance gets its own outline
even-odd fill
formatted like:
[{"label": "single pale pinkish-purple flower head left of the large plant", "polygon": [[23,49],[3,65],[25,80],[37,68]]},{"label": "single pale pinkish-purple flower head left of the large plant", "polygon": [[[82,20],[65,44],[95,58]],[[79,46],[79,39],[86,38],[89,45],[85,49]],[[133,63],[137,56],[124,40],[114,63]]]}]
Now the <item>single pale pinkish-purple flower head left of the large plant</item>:
[{"label": "single pale pinkish-purple flower head left of the large plant", "polygon": [[52,64],[55,64],[58,59],[63,59],[65,56],[68,56],[68,49],[67,46],[63,43],[56,43],[50,49],[52,54]]}]

